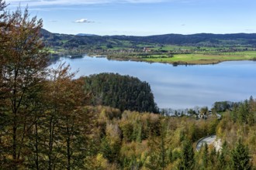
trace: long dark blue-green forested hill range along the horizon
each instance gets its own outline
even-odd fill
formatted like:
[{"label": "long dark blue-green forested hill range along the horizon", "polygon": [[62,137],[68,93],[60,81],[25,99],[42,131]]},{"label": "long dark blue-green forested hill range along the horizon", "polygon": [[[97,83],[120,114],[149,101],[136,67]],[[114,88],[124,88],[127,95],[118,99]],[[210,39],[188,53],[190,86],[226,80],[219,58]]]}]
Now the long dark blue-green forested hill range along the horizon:
[{"label": "long dark blue-green forested hill range along the horizon", "polygon": [[171,44],[178,46],[256,46],[256,34],[209,34],[192,35],[166,34],[160,36],[75,36],[51,33],[42,29],[42,36],[48,46],[121,46]]}]

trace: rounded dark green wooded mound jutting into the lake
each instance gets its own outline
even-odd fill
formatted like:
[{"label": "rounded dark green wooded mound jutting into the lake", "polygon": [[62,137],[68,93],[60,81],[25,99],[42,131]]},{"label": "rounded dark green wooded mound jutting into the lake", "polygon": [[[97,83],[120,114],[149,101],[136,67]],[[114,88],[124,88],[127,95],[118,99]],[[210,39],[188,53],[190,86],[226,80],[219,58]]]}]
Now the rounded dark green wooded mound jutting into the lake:
[{"label": "rounded dark green wooded mound jutting into the lake", "polygon": [[100,73],[85,77],[85,93],[92,95],[92,105],[158,113],[150,85],[132,76]]}]

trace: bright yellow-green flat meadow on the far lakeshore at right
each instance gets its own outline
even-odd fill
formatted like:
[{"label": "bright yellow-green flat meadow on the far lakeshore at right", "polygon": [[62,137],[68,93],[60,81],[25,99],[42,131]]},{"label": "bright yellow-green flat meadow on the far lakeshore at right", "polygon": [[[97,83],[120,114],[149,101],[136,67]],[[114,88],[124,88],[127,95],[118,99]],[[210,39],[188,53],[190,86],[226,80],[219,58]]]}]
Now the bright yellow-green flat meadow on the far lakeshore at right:
[{"label": "bright yellow-green flat meadow on the far lakeshore at right", "polygon": [[216,53],[216,54],[176,54],[171,58],[164,58],[161,56],[151,56],[150,58],[143,59],[147,62],[157,63],[181,63],[181,64],[210,64],[220,63],[223,61],[231,60],[250,60],[256,59],[256,51],[237,52],[237,53]]}]

